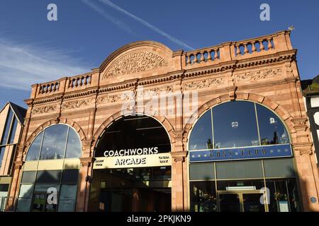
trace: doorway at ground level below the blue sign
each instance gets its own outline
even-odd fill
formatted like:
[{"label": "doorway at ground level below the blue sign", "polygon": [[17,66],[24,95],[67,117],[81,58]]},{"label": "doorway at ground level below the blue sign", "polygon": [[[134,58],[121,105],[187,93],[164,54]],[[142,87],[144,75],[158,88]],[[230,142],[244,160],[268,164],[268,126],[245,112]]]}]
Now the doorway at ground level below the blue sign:
[{"label": "doorway at ground level below the blue sign", "polygon": [[267,212],[259,191],[218,191],[220,212]]}]

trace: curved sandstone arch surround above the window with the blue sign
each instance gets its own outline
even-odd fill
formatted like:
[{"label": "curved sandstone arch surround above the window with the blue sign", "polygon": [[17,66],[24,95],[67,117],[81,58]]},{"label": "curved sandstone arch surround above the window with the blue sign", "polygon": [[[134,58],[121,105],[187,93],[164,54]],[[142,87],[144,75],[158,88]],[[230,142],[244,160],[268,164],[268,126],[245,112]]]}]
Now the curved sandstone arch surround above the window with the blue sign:
[{"label": "curved sandstone arch surround above the window with the blue sign", "polygon": [[291,143],[294,143],[296,138],[293,136],[293,133],[296,133],[296,130],[293,127],[293,122],[291,119],[293,117],[289,112],[284,109],[281,105],[279,105],[278,102],[274,102],[272,99],[269,97],[264,97],[259,94],[255,93],[236,93],[236,95],[232,96],[225,94],[225,95],[220,95],[218,97],[213,98],[212,100],[208,100],[208,102],[204,103],[197,109],[197,114],[193,114],[189,121],[187,121],[186,125],[184,126],[183,130],[183,144],[184,147],[187,147],[187,141],[189,138],[189,132],[194,126],[194,123],[196,123],[197,119],[199,119],[205,112],[207,112],[208,109],[211,109],[215,107],[216,105],[220,105],[224,102],[228,102],[230,100],[247,100],[251,102],[257,102],[264,107],[267,107],[268,109],[271,109],[273,112],[275,112],[281,121],[285,124],[286,129],[288,130],[291,138]]}]

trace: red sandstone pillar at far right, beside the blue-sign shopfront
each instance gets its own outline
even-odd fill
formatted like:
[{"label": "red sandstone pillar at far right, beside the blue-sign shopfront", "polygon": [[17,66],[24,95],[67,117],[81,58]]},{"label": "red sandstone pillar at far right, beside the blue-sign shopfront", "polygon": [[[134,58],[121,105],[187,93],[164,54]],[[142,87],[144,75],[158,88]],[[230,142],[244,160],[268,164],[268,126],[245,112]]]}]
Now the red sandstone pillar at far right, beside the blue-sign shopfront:
[{"label": "red sandstone pillar at far right, beside the blue-sign shopfront", "polygon": [[[293,134],[293,150],[296,159],[297,177],[301,189],[301,201],[304,211],[319,211],[318,169],[313,155],[313,143],[310,142],[310,132],[306,118],[291,120],[296,133]],[[315,198],[315,201],[314,201]],[[312,202],[313,200],[314,202]]]}]

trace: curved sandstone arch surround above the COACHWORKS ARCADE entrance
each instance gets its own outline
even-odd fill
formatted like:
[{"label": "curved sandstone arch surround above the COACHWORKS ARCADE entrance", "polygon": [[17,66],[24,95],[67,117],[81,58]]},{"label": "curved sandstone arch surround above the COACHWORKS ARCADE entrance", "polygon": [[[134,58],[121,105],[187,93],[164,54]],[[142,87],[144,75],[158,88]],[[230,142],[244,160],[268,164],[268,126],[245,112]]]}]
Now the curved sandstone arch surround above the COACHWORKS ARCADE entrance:
[{"label": "curved sandstone arch surround above the COACHWORKS ARCADE entrance", "polygon": [[[144,112],[137,112],[137,114],[144,114],[147,115],[149,117],[152,117],[153,119],[156,119],[157,121],[159,121],[160,124],[163,125],[164,129],[167,131],[167,134],[169,136],[169,139],[172,143],[175,143],[175,139],[174,139],[174,127],[172,126],[172,124],[169,122],[169,120],[166,117],[162,117],[162,116],[157,116],[157,115],[150,115],[150,114],[145,114]],[[111,126],[111,124],[113,124],[114,121],[121,119],[121,117],[125,117],[128,114],[124,114],[124,112],[121,110],[119,112],[116,112],[115,114],[112,114],[110,117],[108,117],[108,119],[106,119],[105,121],[103,121],[103,123],[101,124],[101,126],[99,126],[99,129],[96,130],[96,132],[94,133],[93,136],[93,145],[92,147],[96,146],[96,142],[99,139],[99,136],[101,136],[101,134],[103,133],[103,131],[108,128],[108,126]],[[172,147],[173,148],[173,147]],[[95,153],[94,153],[95,154]]]}]

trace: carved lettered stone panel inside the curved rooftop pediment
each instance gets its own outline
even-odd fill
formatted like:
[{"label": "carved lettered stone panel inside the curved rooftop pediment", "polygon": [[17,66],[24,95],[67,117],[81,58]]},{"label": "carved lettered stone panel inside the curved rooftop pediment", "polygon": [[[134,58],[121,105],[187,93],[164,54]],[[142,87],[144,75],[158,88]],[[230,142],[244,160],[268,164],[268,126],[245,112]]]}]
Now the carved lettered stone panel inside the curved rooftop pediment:
[{"label": "carved lettered stone panel inside the curved rooftop pediment", "polygon": [[146,50],[130,52],[113,63],[102,79],[150,71],[167,65],[167,61],[155,52]]}]

